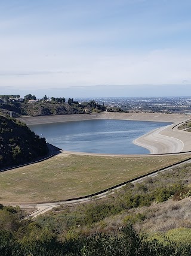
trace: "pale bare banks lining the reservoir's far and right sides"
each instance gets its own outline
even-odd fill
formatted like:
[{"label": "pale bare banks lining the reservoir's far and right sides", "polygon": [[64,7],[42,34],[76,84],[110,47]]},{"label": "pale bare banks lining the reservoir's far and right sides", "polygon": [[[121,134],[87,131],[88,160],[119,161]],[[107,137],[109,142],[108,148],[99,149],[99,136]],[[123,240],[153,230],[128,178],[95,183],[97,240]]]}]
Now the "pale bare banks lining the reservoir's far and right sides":
[{"label": "pale bare banks lining the reservoir's far and right sides", "polygon": [[[191,116],[187,116],[190,119]],[[185,121],[184,115],[164,113],[98,113],[62,116],[39,116],[19,118],[27,125],[50,124],[57,122],[85,121],[93,119],[122,119],[134,121],[173,122],[174,124],[155,129],[133,141],[138,146],[150,150],[151,154],[191,151],[191,132],[178,131],[175,124]]]}]

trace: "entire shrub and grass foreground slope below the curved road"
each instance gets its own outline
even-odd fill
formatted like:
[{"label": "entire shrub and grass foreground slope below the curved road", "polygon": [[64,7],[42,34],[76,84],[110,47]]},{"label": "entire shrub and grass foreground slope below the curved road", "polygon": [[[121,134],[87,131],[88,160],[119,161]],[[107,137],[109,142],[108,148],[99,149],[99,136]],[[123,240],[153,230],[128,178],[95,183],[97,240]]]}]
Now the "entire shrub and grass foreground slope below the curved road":
[{"label": "entire shrub and grass foreground slope below the curved road", "polygon": [[[191,221],[185,200],[190,200],[190,171],[190,164],[183,165],[102,200],[60,206],[33,220],[19,221],[19,207],[1,205],[0,255],[188,256]],[[174,226],[168,225],[171,218]]]}]

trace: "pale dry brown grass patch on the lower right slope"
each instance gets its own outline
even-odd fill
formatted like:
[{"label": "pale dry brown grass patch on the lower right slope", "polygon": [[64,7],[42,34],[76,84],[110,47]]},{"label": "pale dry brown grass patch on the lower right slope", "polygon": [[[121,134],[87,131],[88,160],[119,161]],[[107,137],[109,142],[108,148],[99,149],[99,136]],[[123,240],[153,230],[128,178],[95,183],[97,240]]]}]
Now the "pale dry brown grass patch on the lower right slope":
[{"label": "pale dry brown grass patch on the lower right slope", "polygon": [[160,204],[152,204],[149,207],[140,207],[131,209],[120,215],[105,218],[97,222],[93,227],[84,227],[84,232],[95,233],[118,233],[118,230],[124,226],[124,219],[128,215],[135,216],[136,213],[142,213],[146,216],[144,221],[135,222],[134,228],[138,232],[147,234],[167,233],[174,228],[191,228],[190,200],[186,198],[181,201],[168,200]]}]

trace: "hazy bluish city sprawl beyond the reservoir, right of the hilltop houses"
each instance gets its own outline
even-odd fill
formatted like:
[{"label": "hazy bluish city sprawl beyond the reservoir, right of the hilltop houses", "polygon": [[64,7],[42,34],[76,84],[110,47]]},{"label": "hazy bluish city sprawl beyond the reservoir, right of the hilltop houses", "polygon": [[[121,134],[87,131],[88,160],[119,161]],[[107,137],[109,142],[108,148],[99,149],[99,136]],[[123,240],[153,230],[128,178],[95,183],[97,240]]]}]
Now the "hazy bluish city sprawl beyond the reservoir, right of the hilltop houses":
[{"label": "hazy bluish city sprawl beyond the reservoir, right of the hilltop houses", "polygon": [[120,108],[127,112],[191,112],[191,96],[187,97],[137,97],[137,98],[74,98],[79,103],[95,100],[98,104]]}]

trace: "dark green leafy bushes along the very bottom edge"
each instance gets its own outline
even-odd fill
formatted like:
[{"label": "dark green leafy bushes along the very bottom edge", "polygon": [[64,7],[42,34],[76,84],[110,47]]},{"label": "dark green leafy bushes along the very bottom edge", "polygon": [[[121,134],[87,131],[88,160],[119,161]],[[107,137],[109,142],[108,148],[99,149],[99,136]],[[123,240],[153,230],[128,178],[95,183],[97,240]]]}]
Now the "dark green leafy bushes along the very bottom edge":
[{"label": "dark green leafy bushes along the very bottom edge", "polygon": [[[36,229],[39,231],[38,227]],[[0,255],[3,256],[189,256],[191,254],[191,245],[178,245],[170,241],[164,245],[157,240],[147,242],[143,237],[138,236],[131,225],[122,228],[116,236],[93,234],[63,243],[57,242],[54,237],[47,237],[47,234],[43,234],[41,240],[26,239],[21,242],[11,232],[1,230],[0,234]]]}]

